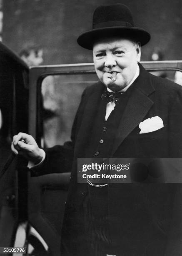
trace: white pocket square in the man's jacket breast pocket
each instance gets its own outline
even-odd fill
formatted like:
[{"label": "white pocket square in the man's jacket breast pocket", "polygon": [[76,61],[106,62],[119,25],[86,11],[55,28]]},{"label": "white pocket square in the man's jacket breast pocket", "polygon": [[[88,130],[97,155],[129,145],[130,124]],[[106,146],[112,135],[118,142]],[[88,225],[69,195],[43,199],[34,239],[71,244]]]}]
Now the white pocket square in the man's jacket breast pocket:
[{"label": "white pocket square in the man's jacket breast pocket", "polygon": [[140,133],[151,133],[152,131],[157,131],[164,127],[164,123],[159,116],[154,116],[152,118],[147,118],[139,124]]}]

